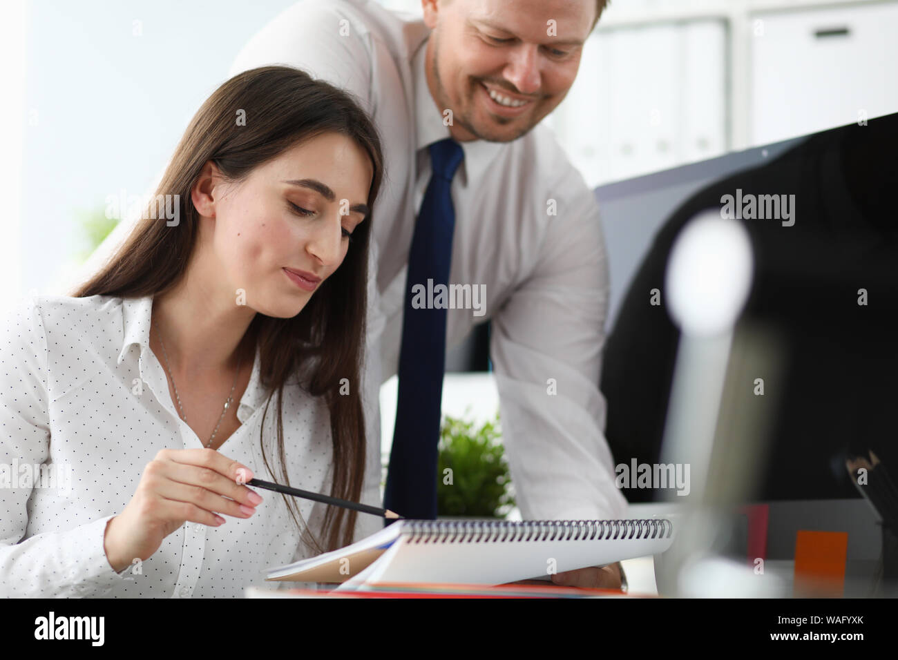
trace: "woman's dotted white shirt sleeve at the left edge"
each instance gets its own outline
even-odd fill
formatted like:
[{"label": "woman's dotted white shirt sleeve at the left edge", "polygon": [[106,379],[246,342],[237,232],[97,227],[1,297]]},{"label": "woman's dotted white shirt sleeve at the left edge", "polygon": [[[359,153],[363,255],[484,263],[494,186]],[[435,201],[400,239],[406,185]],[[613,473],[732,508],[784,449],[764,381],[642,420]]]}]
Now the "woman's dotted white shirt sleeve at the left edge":
[{"label": "woman's dotted white shirt sleeve at the left edge", "polygon": [[17,466],[47,462],[51,435],[47,339],[33,297],[4,309],[0,356],[0,597],[107,594],[129,568],[116,573],[103,550],[112,515],[25,538],[33,485],[19,487]]}]

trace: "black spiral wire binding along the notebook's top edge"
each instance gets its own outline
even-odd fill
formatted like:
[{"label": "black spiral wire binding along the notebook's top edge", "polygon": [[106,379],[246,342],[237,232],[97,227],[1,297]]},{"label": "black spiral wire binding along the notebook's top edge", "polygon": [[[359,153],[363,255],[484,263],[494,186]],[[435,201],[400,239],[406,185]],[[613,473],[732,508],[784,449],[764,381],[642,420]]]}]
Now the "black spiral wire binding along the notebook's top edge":
[{"label": "black spiral wire binding along the notebook's top edge", "polygon": [[409,520],[402,533],[410,543],[517,541],[629,541],[669,539],[674,524],[666,518],[624,520]]}]

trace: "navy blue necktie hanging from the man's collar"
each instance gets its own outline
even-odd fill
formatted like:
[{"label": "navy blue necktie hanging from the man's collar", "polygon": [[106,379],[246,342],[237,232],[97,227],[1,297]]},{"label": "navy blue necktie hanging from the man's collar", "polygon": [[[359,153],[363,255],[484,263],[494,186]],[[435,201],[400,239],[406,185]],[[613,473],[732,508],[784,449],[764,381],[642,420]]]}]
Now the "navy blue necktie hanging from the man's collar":
[{"label": "navy blue necktie hanging from the man's collar", "polygon": [[[413,287],[423,287],[418,301],[427,304],[432,286],[449,283],[455,210],[452,178],[462,163],[462,146],[451,138],[430,145],[433,174],[418,211],[409,249],[409,269],[402,313],[399,393],[390,468],[383,506],[406,518],[436,520],[436,445],[440,436],[440,400],[445,370],[446,311],[416,309]],[[420,289],[419,289],[420,290]],[[384,520],[384,525],[393,521]]]}]

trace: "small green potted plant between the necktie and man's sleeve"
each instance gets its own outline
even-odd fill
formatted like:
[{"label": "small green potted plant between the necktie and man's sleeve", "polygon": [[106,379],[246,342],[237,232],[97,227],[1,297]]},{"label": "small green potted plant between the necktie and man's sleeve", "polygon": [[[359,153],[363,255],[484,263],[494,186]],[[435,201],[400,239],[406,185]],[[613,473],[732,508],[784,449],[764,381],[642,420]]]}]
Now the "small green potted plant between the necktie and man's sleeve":
[{"label": "small green potted plant between the necktie and man's sleeve", "polygon": [[436,507],[440,518],[502,519],[515,506],[499,416],[475,426],[443,417],[437,458]]}]

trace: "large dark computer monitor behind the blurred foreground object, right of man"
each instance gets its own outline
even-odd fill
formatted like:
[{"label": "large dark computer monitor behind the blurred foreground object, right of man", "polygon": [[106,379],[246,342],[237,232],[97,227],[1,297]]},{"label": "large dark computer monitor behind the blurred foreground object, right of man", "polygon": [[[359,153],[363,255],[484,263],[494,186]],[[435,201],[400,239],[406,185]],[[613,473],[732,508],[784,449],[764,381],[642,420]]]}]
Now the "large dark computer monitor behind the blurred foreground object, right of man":
[{"label": "large dark computer monitor behind the blurred foreground object, right of man", "polygon": [[[757,268],[740,327],[779,342],[777,373],[754,374],[740,394],[770,418],[755,497],[857,498],[844,458],[867,445],[894,464],[896,150],[898,114],[597,189],[619,301],[601,383],[617,464],[660,456],[680,336],[663,295],[671,246],[700,212],[734,207],[745,212],[737,219]],[[757,202],[770,211],[774,196],[779,216],[763,217]],[[636,262],[624,263],[628,255]],[[661,499],[651,488],[624,492],[631,502]]]}]

